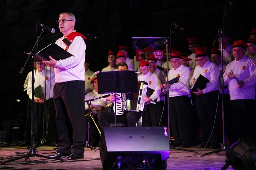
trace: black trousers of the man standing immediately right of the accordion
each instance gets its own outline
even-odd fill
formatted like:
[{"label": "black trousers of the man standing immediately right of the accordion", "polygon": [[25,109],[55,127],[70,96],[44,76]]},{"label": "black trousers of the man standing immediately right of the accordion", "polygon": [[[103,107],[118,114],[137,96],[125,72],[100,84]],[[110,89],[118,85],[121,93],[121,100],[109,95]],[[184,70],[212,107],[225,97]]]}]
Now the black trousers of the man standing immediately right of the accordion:
[{"label": "black trousers of the man standing immediately right of the accordion", "polygon": [[[150,103],[145,106],[144,112],[142,114],[142,126],[158,126],[161,118],[161,103],[156,102],[156,104]],[[161,113],[160,113],[161,112]]]}]

